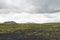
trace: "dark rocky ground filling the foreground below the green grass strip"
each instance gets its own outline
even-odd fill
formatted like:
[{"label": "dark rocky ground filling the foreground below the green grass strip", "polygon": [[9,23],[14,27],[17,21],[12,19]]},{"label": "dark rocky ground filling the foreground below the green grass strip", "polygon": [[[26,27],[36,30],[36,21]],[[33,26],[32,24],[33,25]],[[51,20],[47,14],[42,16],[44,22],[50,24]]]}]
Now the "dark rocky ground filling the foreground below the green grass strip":
[{"label": "dark rocky ground filling the foreground below the green grass strip", "polygon": [[60,30],[16,30],[14,32],[0,34],[0,40],[60,40]]}]

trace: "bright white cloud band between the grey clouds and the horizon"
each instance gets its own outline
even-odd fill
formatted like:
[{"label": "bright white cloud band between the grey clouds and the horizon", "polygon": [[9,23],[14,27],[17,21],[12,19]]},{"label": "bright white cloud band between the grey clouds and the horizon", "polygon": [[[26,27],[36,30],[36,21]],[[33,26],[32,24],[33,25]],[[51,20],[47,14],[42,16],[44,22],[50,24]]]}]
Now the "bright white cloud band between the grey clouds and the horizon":
[{"label": "bright white cloud band between the grey clouds and the horizon", "polygon": [[0,22],[15,21],[17,23],[49,23],[60,22],[60,12],[53,14],[30,14],[30,13],[15,13],[0,14]]}]

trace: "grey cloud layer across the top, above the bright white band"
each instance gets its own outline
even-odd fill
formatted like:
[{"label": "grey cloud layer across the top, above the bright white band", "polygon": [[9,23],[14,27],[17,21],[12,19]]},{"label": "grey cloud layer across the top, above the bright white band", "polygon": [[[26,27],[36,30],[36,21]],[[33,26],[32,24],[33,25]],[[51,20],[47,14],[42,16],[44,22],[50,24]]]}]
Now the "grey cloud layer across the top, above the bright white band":
[{"label": "grey cloud layer across the top, above the bright white band", "polygon": [[0,9],[33,13],[60,12],[60,0],[0,0]]}]

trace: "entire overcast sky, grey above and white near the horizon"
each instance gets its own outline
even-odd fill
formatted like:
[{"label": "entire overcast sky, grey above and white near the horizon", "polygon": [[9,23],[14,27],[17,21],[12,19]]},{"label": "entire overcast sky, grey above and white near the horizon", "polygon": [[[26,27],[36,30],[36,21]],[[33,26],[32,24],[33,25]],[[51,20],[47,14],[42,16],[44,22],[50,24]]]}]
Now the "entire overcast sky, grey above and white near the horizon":
[{"label": "entire overcast sky, grey above and white near the horizon", "polygon": [[60,22],[60,0],[0,0],[0,22]]}]

